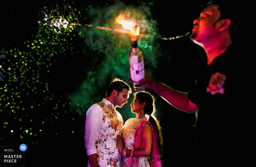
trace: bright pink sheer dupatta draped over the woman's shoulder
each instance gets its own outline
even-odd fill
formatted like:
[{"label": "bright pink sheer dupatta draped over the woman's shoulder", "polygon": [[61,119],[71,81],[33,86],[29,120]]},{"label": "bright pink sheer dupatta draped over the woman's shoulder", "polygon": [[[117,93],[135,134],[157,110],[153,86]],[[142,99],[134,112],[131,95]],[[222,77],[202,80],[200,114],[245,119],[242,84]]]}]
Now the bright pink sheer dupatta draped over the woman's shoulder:
[{"label": "bright pink sheer dupatta draped over the woman's shoulder", "polygon": [[[152,124],[148,122],[147,120],[143,121],[139,124],[139,126],[136,128],[135,136],[134,136],[134,142],[133,142],[133,148],[134,150],[141,149],[142,148],[142,128],[145,123],[148,123],[151,127],[152,132],[152,146],[150,151],[150,162],[151,167],[162,167],[162,162],[159,155],[159,148],[158,148],[158,142],[157,142],[157,132],[153,128]],[[132,157],[133,164],[132,167],[138,167],[140,157]]]}]

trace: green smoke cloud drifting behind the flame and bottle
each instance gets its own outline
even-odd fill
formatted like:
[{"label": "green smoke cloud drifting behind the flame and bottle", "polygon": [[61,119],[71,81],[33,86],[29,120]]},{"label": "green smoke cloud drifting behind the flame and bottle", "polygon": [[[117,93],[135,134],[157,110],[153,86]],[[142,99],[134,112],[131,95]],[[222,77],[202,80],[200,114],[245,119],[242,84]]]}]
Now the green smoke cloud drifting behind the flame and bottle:
[{"label": "green smoke cloud drifting behind the flame and bottle", "polygon": [[96,63],[97,65],[87,72],[87,78],[78,90],[68,96],[71,100],[71,107],[76,108],[76,111],[83,116],[86,115],[86,111],[92,104],[105,98],[102,95],[106,92],[104,89],[108,87],[109,78],[118,77],[129,83],[128,52],[131,49],[130,35],[98,29],[97,26],[123,29],[120,25],[115,24],[116,17],[122,13],[125,14],[126,20],[138,23],[140,33],[150,36],[138,36],[138,47],[142,50],[144,56],[144,66],[150,73],[157,68],[158,53],[160,52],[159,44],[155,41],[159,36],[157,21],[152,18],[148,6],[135,7],[118,1],[109,7],[90,7],[85,11],[88,16],[85,19],[89,20],[93,27],[81,26],[79,37],[84,38],[86,48],[88,46],[91,51],[105,56],[103,59],[95,56],[94,59],[91,59],[91,62],[87,62],[88,64]]}]

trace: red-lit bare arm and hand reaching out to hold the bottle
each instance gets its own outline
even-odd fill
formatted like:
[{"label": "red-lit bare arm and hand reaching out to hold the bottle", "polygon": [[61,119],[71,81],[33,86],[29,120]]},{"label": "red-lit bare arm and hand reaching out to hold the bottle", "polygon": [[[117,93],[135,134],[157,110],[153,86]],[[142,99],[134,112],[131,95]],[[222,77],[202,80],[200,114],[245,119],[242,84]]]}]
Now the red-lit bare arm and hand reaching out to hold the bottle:
[{"label": "red-lit bare arm and hand reaching out to hold the bottle", "polygon": [[196,104],[192,103],[188,99],[188,94],[175,91],[172,88],[166,86],[165,84],[154,80],[146,70],[145,78],[140,80],[140,83],[142,82],[146,84],[146,88],[155,91],[159,96],[165,99],[173,107],[189,113],[196,112]]}]

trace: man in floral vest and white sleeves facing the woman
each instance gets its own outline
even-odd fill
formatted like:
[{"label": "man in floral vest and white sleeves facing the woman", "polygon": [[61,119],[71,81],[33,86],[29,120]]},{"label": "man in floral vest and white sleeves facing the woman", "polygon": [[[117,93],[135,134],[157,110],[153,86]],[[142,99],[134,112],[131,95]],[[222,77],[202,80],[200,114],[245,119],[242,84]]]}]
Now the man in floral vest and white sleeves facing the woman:
[{"label": "man in floral vest and white sleeves facing the woman", "polygon": [[127,83],[115,78],[106,92],[106,99],[87,110],[84,147],[89,158],[88,167],[120,166],[116,136],[121,134],[124,122],[116,107],[127,103],[131,92]]}]

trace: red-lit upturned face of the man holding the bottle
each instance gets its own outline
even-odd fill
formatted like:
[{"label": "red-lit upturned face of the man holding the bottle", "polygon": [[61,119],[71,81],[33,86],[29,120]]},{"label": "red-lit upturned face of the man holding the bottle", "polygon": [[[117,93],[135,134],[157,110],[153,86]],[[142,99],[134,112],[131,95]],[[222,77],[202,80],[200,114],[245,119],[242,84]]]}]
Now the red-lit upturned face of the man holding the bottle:
[{"label": "red-lit upturned face of the man holding the bottle", "polygon": [[218,10],[217,5],[209,5],[205,8],[200,16],[193,21],[193,29],[191,38],[197,42],[204,43],[209,41],[218,35],[218,29],[216,22],[221,16],[221,12]]}]

